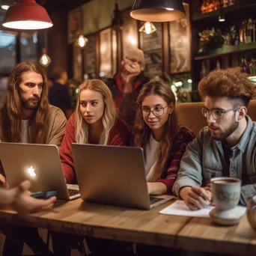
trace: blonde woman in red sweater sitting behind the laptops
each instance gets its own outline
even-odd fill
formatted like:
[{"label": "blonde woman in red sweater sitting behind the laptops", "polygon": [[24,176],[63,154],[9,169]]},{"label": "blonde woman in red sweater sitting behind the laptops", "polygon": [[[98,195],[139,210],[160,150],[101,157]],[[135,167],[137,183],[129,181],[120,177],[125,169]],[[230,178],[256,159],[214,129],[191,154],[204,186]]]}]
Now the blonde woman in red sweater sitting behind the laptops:
[{"label": "blonde woman in red sweater sitting behind the laptops", "polygon": [[60,148],[67,183],[76,182],[72,143],[115,146],[126,146],[129,143],[129,127],[118,118],[111,91],[98,79],[88,80],[79,86],[76,112],[67,121]]}]

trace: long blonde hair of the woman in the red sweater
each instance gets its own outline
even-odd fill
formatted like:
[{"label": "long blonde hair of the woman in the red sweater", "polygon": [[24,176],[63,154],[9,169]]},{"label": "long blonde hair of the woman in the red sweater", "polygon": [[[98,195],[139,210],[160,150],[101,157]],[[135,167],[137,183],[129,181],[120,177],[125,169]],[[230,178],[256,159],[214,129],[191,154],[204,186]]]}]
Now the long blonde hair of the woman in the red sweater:
[{"label": "long blonde hair of the woman in the red sweater", "polygon": [[80,112],[80,94],[84,90],[92,90],[99,92],[104,101],[105,109],[103,113],[103,133],[100,135],[99,144],[108,144],[109,132],[114,127],[117,118],[117,110],[112,99],[112,93],[108,86],[99,79],[91,79],[79,85],[79,94],[76,103],[76,143],[88,143],[89,126]]}]

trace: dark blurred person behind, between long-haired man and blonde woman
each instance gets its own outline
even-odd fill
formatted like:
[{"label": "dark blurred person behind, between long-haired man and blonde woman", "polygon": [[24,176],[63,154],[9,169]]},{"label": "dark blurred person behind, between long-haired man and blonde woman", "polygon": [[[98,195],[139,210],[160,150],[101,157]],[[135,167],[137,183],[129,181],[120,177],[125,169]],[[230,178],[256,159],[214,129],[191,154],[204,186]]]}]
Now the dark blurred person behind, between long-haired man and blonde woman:
[{"label": "dark blurred person behind, between long-haired man and blonde woman", "polygon": [[67,86],[67,72],[62,67],[54,67],[52,73],[55,83],[49,88],[49,103],[60,108],[68,119],[73,113],[73,109]]}]

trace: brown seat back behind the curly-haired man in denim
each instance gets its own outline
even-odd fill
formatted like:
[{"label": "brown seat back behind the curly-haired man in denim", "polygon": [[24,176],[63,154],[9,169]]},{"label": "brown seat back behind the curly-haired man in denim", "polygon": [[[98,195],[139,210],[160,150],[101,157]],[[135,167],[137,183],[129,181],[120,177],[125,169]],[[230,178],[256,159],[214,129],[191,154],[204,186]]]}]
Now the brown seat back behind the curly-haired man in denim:
[{"label": "brown seat back behind the curly-haired man in denim", "polygon": [[[176,106],[179,124],[192,129],[195,135],[207,126],[207,119],[201,114],[203,106],[203,102],[180,103]],[[250,101],[247,115],[252,118],[252,121],[256,121],[256,100]]]}]

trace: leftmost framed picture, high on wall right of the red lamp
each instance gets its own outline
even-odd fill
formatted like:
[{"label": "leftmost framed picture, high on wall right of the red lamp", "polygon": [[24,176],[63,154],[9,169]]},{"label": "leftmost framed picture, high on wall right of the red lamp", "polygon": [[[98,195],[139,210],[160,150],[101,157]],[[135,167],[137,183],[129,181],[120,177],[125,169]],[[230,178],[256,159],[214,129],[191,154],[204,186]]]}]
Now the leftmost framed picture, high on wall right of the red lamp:
[{"label": "leftmost framed picture, high on wall right of the red lamp", "polygon": [[68,13],[67,38],[68,43],[74,43],[82,32],[82,8],[78,7]]}]

